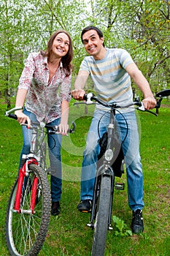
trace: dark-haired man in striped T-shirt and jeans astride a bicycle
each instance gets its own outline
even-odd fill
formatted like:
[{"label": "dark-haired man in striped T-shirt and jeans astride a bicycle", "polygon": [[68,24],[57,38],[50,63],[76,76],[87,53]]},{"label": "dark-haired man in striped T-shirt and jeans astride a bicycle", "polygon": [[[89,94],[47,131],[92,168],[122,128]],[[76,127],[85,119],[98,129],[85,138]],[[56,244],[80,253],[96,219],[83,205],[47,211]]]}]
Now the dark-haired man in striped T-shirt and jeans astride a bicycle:
[{"label": "dark-haired man in striped T-shirt and jeans astride a bicycle", "polygon": [[[104,37],[102,32],[94,27],[88,26],[82,30],[82,43],[89,56],[85,57],[80,65],[80,71],[74,84],[72,95],[74,99],[82,100],[85,94],[85,82],[90,75],[93,80],[94,90],[98,99],[105,102],[116,102],[117,105],[125,106],[133,101],[131,89],[131,78],[144,94],[144,108],[149,110],[155,107],[156,101],[150,90],[149,83],[136,67],[134,61],[126,50],[118,48],[104,48]],[[128,183],[128,205],[132,210],[131,228],[133,233],[141,233],[144,230],[142,208],[143,202],[143,175],[142,164],[139,154],[139,134],[134,110],[123,108],[115,118],[120,127],[123,154]],[[81,201],[77,206],[79,211],[90,211],[93,200],[93,185],[96,173],[96,162],[100,147],[98,146],[98,121],[102,123],[99,127],[100,137],[104,134],[109,124],[107,109],[96,105],[93,120],[90,124],[86,148],[83,152]],[[104,114],[105,113],[105,114]],[[128,123],[128,135],[127,126]]]}]

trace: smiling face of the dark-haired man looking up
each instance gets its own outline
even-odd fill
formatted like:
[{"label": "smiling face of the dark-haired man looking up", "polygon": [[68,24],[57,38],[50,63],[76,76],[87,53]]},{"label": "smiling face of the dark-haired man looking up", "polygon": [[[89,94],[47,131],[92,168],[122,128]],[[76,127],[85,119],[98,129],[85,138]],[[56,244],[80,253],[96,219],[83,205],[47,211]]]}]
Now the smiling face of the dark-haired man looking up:
[{"label": "smiling face of the dark-haired man looking up", "polygon": [[85,46],[85,50],[88,54],[94,57],[94,59],[100,59],[100,56],[103,55],[104,46],[104,38],[99,37],[96,30],[89,30],[82,35],[82,42]]}]

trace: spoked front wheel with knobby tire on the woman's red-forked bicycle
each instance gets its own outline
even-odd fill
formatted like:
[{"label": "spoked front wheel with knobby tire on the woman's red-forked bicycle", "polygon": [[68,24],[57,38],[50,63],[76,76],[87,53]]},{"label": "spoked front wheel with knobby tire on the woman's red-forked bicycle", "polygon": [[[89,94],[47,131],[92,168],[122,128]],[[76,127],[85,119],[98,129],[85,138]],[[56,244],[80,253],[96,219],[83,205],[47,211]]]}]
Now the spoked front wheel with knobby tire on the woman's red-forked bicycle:
[{"label": "spoked front wheel with knobby tire on the woman's red-forked bicycle", "polygon": [[21,209],[28,209],[31,200],[31,184],[34,176],[38,177],[36,205],[34,214],[24,214],[13,211],[18,179],[12,187],[9,196],[6,216],[6,241],[12,256],[38,255],[47,235],[50,222],[50,185],[44,170],[37,165],[28,165],[29,174],[26,177]]}]

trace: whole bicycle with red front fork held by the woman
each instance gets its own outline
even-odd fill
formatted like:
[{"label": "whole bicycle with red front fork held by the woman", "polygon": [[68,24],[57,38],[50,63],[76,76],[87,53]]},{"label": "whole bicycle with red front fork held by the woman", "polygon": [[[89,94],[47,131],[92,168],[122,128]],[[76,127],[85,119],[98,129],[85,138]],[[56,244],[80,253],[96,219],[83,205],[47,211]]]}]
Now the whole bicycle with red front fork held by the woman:
[{"label": "whole bicycle with red front fork held by the woman", "polygon": [[[17,119],[12,112],[19,109],[21,108],[12,108],[5,116]],[[75,124],[72,124],[73,128],[68,131],[70,133],[75,129]],[[6,241],[12,256],[38,255],[50,222],[51,199],[45,136],[47,133],[57,133],[58,127],[31,123],[30,129],[31,150],[28,155],[23,155],[7,206]]]}]

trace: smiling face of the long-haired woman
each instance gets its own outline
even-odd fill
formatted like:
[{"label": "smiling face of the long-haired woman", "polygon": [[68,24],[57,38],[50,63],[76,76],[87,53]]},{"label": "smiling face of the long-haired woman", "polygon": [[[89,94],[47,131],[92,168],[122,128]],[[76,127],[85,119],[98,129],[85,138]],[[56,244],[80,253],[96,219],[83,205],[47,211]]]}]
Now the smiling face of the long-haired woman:
[{"label": "smiling face of the long-haired woman", "polygon": [[69,37],[64,33],[59,33],[53,40],[52,53],[61,58],[69,51]]}]

